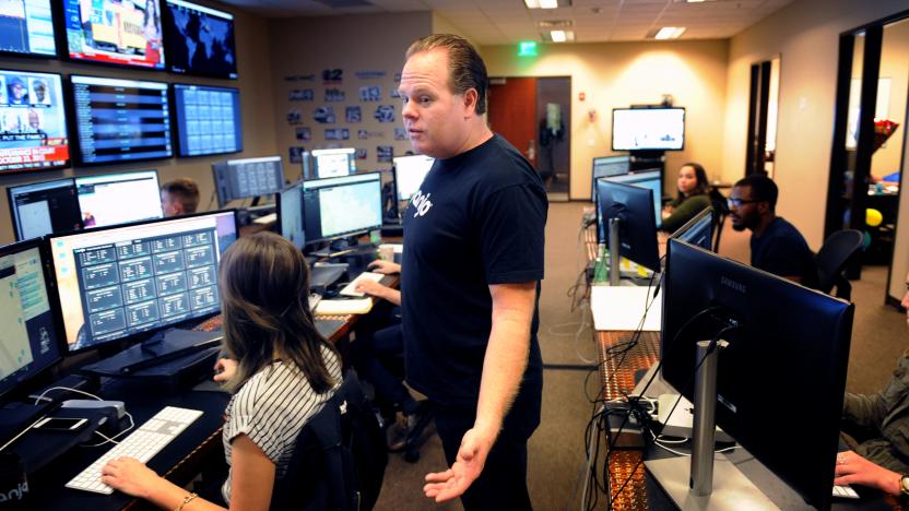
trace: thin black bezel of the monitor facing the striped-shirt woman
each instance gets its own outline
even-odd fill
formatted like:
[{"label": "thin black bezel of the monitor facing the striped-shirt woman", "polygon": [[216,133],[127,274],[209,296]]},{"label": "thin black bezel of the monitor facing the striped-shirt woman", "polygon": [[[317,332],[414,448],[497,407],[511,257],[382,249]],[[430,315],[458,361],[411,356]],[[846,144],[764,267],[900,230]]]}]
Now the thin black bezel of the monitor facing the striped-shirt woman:
[{"label": "thin black bezel of the monitor facing the striped-shirt woman", "polygon": [[[43,243],[45,245],[45,248],[47,250],[47,253],[50,255],[50,254],[54,253],[52,252],[52,247],[51,247],[52,240],[56,239],[56,238],[63,237],[63,236],[78,236],[78,235],[82,235],[82,234],[98,235],[98,234],[101,234],[105,230],[110,230],[110,229],[130,228],[130,227],[137,227],[137,226],[141,226],[141,225],[156,224],[156,223],[161,223],[161,222],[177,221],[177,219],[184,219],[184,218],[193,218],[193,217],[205,216],[205,215],[219,215],[219,214],[225,214],[225,213],[229,213],[234,217],[234,231],[237,234],[237,239],[239,239],[239,237],[240,237],[240,225],[239,225],[239,218],[237,217],[237,210],[235,210],[235,209],[223,209],[223,210],[215,210],[215,211],[205,211],[205,212],[192,213],[192,214],[188,214],[188,215],[155,218],[155,219],[152,219],[152,221],[140,221],[140,222],[130,222],[128,224],[107,225],[107,226],[104,226],[104,227],[98,227],[96,229],[91,229],[90,231],[79,230],[79,231],[64,233],[64,234],[60,234],[60,235],[48,235],[48,236],[45,236],[42,239],[43,239]],[[222,257],[223,257],[223,254],[222,254]],[[168,324],[162,325],[160,328],[144,330],[142,332],[137,332],[134,334],[126,335],[123,337],[111,338],[111,340],[103,341],[103,342],[99,342],[99,343],[96,343],[96,344],[92,344],[90,346],[83,346],[81,348],[70,349],[70,345],[69,345],[69,342],[67,340],[66,321],[63,320],[63,307],[62,307],[62,304],[61,304],[59,289],[57,287],[57,284],[58,284],[57,283],[57,269],[56,269],[56,265],[55,265],[55,262],[54,262],[55,260],[54,260],[52,257],[50,257],[48,259],[48,261],[49,261],[49,268],[47,270],[54,277],[54,286],[55,286],[55,292],[56,292],[56,295],[54,296],[55,301],[52,302],[54,307],[51,307],[51,309],[55,311],[55,324],[58,325],[57,330],[58,330],[58,333],[60,334],[59,342],[60,342],[60,346],[61,346],[61,354],[63,356],[84,353],[84,352],[90,352],[90,350],[93,350],[93,349],[104,349],[108,346],[115,346],[115,345],[118,345],[118,344],[121,345],[121,346],[126,346],[126,345],[131,344],[133,342],[143,340],[143,338],[147,338],[147,337],[154,335],[155,332],[160,332],[160,331],[166,330],[166,329],[176,329],[176,328],[180,328],[180,326],[186,326],[186,325],[193,324],[193,323],[201,323],[205,319],[221,313],[221,304],[219,301],[219,310],[205,313],[205,314],[197,317],[197,318],[188,318],[186,320],[181,320],[181,321],[178,321],[176,323],[168,323]],[[220,265],[220,261],[219,261],[219,265]],[[220,283],[219,283],[219,285],[220,285]]]}]

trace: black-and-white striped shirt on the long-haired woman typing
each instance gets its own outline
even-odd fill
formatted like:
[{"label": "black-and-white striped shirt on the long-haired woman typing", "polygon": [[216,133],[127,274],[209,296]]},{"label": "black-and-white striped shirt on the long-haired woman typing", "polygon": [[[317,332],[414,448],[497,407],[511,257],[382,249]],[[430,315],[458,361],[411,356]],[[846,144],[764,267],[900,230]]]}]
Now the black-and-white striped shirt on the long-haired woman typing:
[{"label": "black-and-white striped shirt on the long-haired woman typing", "polygon": [[[227,465],[231,465],[232,442],[239,435],[246,435],[274,462],[275,478],[284,475],[303,426],[341,385],[338,356],[326,346],[321,353],[329,375],[337,382],[330,392],[317,394],[299,368],[279,360],[259,370],[234,394],[227,404],[222,437]],[[231,502],[232,476],[233,468],[221,488],[225,502]]]}]

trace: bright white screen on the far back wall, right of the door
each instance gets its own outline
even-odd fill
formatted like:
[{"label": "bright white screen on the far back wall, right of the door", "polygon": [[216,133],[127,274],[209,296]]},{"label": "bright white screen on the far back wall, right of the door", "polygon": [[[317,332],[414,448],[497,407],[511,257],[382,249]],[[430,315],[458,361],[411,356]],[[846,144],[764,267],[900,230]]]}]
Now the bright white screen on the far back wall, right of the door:
[{"label": "bright white screen on the far back wall, right of the door", "polygon": [[614,108],[613,151],[682,151],[685,148],[684,108]]}]

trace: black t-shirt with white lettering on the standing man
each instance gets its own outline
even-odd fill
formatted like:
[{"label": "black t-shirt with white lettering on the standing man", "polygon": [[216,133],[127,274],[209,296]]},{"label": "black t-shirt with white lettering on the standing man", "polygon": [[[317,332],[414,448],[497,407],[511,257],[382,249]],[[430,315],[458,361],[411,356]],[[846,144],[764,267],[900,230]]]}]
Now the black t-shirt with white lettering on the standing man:
[{"label": "black t-shirt with white lettering on the standing man", "polygon": [[[433,164],[403,215],[402,328],[414,389],[445,406],[476,406],[488,286],[543,278],[547,207],[536,171],[498,135]],[[542,381],[538,324],[534,306],[522,389]]]}]

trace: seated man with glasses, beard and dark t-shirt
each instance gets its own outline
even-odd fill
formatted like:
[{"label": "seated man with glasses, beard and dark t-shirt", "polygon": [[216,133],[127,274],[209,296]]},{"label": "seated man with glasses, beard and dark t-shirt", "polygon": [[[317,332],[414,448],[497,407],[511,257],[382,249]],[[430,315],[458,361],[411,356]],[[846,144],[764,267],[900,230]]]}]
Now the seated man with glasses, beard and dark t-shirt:
[{"label": "seated man with glasses, beard and dark t-shirt", "polygon": [[752,266],[815,287],[814,254],[799,229],[777,216],[778,195],[777,185],[766,176],[740,179],[729,195],[732,228],[752,231]]}]

